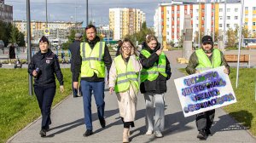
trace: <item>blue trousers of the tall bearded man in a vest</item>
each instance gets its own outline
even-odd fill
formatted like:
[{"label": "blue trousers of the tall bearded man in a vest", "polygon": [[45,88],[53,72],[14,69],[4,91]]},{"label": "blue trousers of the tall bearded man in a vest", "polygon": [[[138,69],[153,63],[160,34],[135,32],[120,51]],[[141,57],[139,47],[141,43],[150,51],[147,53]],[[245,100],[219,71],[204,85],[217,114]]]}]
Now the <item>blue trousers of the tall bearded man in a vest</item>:
[{"label": "blue trousers of the tall bearded man in a vest", "polygon": [[87,82],[81,80],[81,89],[84,101],[84,123],[86,129],[92,130],[91,121],[91,91],[93,91],[94,98],[96,100],[97,112],[99,119],[104,118],[104,88],[105,82]]}]

